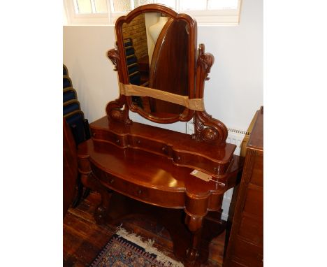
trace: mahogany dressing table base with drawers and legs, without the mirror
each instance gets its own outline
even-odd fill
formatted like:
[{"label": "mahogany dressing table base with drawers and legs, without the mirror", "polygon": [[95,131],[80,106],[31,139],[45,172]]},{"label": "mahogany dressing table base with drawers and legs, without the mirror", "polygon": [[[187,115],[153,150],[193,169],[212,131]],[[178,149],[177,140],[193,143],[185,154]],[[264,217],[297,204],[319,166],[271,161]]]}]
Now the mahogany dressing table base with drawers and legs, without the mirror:
[{"label": "mahogany dressing table base with drawers and legs, without the mirror", "polygon": [[[168,218],[166,227],[179,244],[174,247],[175,254],[185,263],[206,261],[208,253],[199,250],[205,247],[201,243],[205,218],[221,209],[224,192],[240,179],[242,159],[233,156],[235,146],[201,144],[185,133],[136,122],[110,122],[108,117],[93,122],[90,128],[92,140],[79,145],[78,158],[82,182],[101,194],[96,222],[108,220],[112,192],[153,206],[180,209],[157,211],[162,222]],[[193,161],[191,157],[195,157]],[[198,166],[210,166],[212,178],[219,183],[205,182],[190,174],[196,159]],[[189,166],[183,166],[183,162]],[[225,166],[220,168],[219,164]],[[182,220],[189,231],[183,225],[177,227],[177,221]],[[212,229],[211,236],[207,233],[212,239],[224,226],[206,229]]]}]

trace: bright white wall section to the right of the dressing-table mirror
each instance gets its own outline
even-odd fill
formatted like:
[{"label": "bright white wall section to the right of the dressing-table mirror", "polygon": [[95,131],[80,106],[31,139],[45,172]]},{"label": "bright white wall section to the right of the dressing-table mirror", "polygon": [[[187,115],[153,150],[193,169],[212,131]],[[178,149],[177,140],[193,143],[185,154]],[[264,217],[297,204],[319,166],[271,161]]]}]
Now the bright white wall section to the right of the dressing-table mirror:
[{"label": "bright white wall section to the right of the dressing-table mirror", "polygon": [[263,1],[242,1],[236,27],[198,27],[198,43],[215,56],[205,83],[205,110],[246,130],[263,105]]}]

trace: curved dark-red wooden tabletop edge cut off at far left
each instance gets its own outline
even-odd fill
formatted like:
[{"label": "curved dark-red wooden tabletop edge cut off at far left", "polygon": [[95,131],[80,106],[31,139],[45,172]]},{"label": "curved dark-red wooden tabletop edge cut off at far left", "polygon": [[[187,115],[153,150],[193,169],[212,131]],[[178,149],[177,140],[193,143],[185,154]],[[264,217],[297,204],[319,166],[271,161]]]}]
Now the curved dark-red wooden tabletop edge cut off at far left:
[{"label": "curved dark-red wooden tabletop edge cut off at far left", "polygon": [[75,140],[65,118],[63,120],[63,153],[63,211],[65,217],[69,206],[73,202],[78,179],[78,158]]}]

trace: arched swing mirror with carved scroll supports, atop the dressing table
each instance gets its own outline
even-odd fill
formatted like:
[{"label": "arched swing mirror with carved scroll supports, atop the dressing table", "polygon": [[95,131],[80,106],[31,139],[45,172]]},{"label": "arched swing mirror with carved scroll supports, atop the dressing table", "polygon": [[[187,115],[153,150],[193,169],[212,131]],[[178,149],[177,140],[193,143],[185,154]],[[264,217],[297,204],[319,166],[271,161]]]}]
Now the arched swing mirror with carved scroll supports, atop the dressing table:
[{"label": "arched swing mirror with carved scroll supports, atop the dressing table", "polygon": [[[152,50],[153,35],[149,30],[161,22]],[[143,36],[131,36],[129,27],[139,27]],[[140,6],[119,17],[116,35],[117,48],[110,50],[108,57],[118,72],[120,94],[106,108],[110,120],[131,123],[129,110],[158,123],[187,122],[193,118],[192,138],[225,143],[226,126],[206,113],[203,103],[204,82],[209,79],[214,57],[205,53],[201,44],[196,59],[196,22],[189,15],[177,14],[161,5]],[[143,40],[143,45],[138,44],[138,39]],[[136,62],[130,60],[138,57]],[[143,80],[136,76],[142,64],[146,65]]]}]

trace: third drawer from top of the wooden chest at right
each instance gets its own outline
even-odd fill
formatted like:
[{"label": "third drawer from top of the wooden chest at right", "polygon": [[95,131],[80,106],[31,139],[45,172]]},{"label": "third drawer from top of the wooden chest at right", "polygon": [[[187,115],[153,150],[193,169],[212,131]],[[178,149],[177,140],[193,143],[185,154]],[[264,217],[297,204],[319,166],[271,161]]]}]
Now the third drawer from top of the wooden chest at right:
[{"label": "third drawer from top of the wooden chest at right", "polygon": [[257,245],[263,245],[263,222],[243,214],[238,234]]}]

